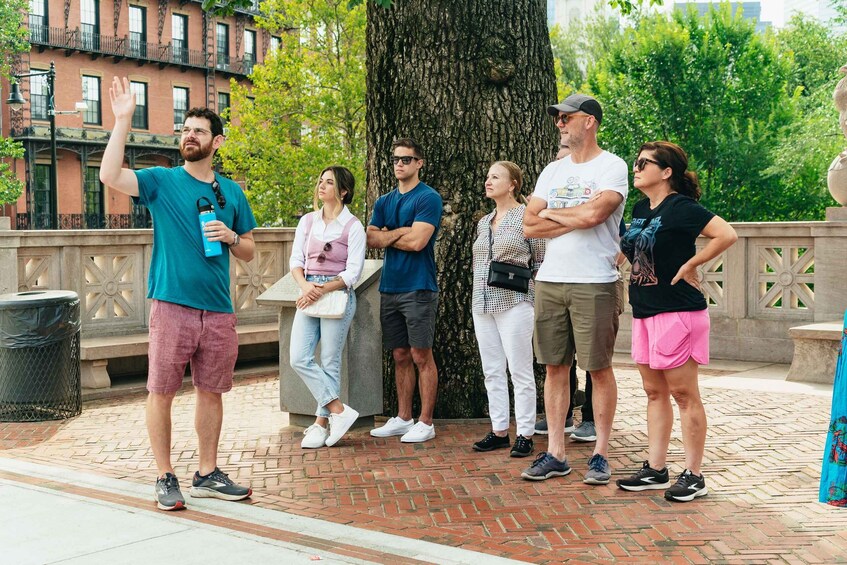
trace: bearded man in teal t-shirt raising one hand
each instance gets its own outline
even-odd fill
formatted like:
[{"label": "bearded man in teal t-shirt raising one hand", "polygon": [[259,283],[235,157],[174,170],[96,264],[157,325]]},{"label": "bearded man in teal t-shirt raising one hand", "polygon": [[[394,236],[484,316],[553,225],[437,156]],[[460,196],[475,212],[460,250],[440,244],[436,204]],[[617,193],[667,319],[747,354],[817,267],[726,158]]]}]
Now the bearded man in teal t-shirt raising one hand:
[{"label": "bearded man in teal t-shirt raising one hand", "polygon": [[[195,428],[199,469],[190,494],[241,500],[252,490],[235,484],[217,466],[223,424],[222,394],[232,388],[238,357],[236,317],[230,298],[229,255],[250,261],[255,244],[253,212],[241,188],[212,170],[224,142],[223,123],[208,108],[186,113],[180,138],[181,167],[122,168],[135,110],[126,78],[109,89],[115,126],[103,153],[100,180],[145,205],[153,217],[153,255],[147,283],[150,307],[150,368],[147,376],[147,432],[156,459],[156,502],[162,510],[185,507],[171,464],[171,406],[191,363],[196,391]],[[204,234],[223,253],[207,257],[198,208],[212,205],[217,219]]]}]

